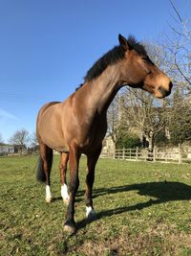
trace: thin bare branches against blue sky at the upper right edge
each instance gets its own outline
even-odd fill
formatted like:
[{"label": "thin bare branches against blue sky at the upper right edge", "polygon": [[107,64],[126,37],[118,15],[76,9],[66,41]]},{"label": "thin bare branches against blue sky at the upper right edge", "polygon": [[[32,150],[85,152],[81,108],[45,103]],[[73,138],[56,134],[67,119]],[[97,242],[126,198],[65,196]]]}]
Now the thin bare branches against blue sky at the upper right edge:
[{"label": "thin bare branches against blue sky at the upper right edge", "polygon": [[[174,83],[183,88],[184,93],[190,93],[191,85],[191,18],[183,18],[172,0],[173,18],[176,26],[171,26],[173,34],[168,35],[163,43],[168,62],[168,73],[171,74]],[[162,44],[160,42],[160,44]]]}]

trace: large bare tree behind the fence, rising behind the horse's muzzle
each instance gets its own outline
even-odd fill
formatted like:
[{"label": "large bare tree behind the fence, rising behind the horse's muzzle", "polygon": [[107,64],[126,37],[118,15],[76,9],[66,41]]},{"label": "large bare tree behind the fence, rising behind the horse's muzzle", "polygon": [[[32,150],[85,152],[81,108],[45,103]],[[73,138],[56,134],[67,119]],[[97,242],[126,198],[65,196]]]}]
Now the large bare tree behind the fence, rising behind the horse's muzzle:
[{"label": "large bare tree behind the fence, rising behind the horse's muzzle", "polygon": [[[166,72],[164,52],[157,44],[144,43],[149,57]],[[153,148],[156,137],[167,128],[169,121],[169,99],[157,100],[142,90],[126,87],[123,93],[124,119],[128,120],[131,131],[138,134],[142,146]]]}]

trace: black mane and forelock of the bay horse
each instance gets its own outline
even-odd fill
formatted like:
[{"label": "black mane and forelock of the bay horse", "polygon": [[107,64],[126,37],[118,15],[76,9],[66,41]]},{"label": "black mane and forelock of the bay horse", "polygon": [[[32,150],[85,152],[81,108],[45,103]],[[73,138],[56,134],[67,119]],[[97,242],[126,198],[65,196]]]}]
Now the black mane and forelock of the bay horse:
[{"label": "black mane and forelock of the bay horse", "polygon": [[[130,46],[142,56],[147,56],[146,50],[142,44],[140,44],[134,36],[128,37],[128,43]],[[84,82],[93,81],[99,77],[102,72],[109,66],[117,63],[120,59],[124,58],[125,51],[120,45],[115,46],[112,50],[106,53],[103,57],[96,60],[95,64],[88,70],[84,77]],[[79,87],[83,86],[83,83]],[[78,88],[77,88],[78,89]]]}]

